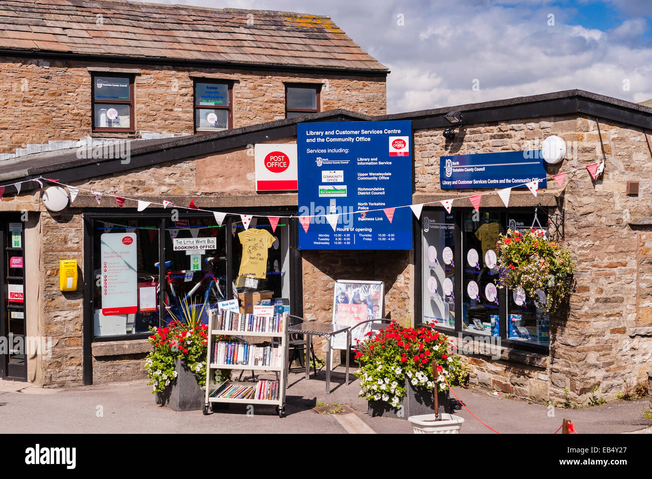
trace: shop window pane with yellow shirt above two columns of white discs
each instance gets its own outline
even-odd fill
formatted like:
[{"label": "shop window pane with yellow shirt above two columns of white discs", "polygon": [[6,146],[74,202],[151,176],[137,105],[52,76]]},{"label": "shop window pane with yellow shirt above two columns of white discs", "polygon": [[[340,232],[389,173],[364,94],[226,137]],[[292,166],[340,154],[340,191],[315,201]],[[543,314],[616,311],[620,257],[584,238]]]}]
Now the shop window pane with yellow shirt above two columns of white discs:
[{"label": "shop window pane with yellow shirt above two columns of white discs", "polygon": [[499,321],[496,287],[496,242],[500,234],[500,214],[462,214],[462,323],[465,330],[491,334]]}]

